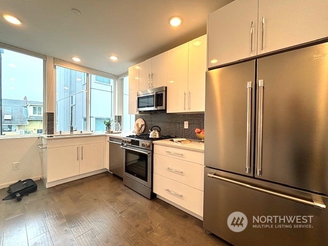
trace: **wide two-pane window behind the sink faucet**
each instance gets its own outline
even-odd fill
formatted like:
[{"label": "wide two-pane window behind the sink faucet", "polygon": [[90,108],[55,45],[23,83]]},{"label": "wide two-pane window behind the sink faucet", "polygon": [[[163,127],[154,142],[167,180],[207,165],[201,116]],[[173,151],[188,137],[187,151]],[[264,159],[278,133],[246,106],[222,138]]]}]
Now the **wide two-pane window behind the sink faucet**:
[{"label": "wide two-pane window behind the sink faucet", "polygon": [[[111,78],[56,66],[56,131],[105,131],[113,115]],[[89,100],[89,104],[87,104]]]}]

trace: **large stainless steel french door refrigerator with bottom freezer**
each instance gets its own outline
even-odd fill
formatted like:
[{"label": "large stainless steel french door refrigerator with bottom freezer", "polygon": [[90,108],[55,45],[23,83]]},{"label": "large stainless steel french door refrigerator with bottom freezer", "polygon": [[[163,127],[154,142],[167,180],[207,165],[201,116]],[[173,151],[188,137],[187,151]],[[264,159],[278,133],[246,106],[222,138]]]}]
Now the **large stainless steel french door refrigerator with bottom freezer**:
[{"label": "large stainless steel french door refrigerator with bottom freezer", "polygon": [[203,227],[234,245],[328,245],[328,43],[206,74]]}]

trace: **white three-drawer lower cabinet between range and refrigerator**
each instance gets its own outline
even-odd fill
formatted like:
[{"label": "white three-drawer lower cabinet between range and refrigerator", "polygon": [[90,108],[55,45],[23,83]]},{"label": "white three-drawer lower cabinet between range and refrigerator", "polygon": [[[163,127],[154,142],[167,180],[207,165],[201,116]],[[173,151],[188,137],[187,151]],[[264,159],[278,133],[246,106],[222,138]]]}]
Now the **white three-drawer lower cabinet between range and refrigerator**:
[{"label": "white three-drawer lower cabinet between range and refrigerator", "polygon": [[154,145],[154,193],[200,219],[203,217],[203,158],[203,152]]}]

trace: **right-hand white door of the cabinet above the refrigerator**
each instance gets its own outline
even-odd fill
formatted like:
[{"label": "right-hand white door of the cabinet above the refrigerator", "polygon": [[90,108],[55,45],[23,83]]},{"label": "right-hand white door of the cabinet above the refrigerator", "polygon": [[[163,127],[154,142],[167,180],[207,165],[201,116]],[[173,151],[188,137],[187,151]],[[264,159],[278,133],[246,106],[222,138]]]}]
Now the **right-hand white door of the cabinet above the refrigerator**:
[{"label": "right-hand white door of the cabinet above the refrigerator", "polygon": [[328,1],[326,0],[310,2],[259,0],[258,54],[327,37],[327,16]]}]

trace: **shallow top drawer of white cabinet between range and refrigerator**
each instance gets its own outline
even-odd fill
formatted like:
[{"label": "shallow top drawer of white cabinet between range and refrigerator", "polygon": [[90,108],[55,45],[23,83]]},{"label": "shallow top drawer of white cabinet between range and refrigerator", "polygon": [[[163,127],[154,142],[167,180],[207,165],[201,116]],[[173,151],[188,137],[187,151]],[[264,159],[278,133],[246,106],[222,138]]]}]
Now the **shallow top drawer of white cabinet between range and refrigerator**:
[{"label": "shallow top drawer of white cabinet between range and refrigerator", "polygon": [[185,149],[168,147],[168,146],[154,145],[154,153],[204,165],[203,152],[185,150]]}]

